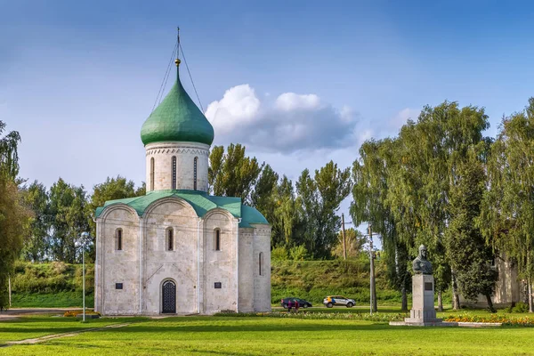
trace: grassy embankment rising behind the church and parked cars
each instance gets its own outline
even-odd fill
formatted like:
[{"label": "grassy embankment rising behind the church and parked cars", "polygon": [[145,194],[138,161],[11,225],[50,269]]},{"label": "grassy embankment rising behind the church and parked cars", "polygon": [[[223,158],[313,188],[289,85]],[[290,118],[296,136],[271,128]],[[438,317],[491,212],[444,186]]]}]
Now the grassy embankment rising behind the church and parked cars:
[{"label": "grassy embankment rising behind the church and parked cars", "polygon": [[[86,264],[85,303],[93,307],[93,264]],[[368,303],[368,261],[273,261],[271,302],[298,296],[319,305],[326,295],[345,295]],[[387,287],[384,268],[376,262],[376,295],[381,304],[401,303],[401,294]],[[68,263],[17,263],[12,278],[12,307],[82,305],[82,266]]]}]

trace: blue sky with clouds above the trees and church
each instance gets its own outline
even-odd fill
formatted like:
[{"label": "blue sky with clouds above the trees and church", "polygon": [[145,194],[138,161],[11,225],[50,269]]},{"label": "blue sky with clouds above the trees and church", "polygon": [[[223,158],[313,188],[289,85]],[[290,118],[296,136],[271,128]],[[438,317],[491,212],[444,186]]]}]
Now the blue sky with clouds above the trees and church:
[{"label": "blue sky with clouds above the trees and church", "polygon": [[425,104],[483,106],[495,135],[534,95],[528,2],[0,6],[0,119],[22,136],[21,176],[47,186],[142,182],[140,128],[176,26],[214,143],[243,142],[294,180],[329,159],[350,166],[363,140],[395,134]]}]

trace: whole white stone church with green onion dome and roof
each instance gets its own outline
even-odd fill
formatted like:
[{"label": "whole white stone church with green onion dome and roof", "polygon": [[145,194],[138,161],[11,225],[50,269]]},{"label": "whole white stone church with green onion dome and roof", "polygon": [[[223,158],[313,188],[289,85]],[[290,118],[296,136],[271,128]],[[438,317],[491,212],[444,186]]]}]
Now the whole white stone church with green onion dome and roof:
[{"label": "whole white stone church with green onion dome and roof", "polygon": [[96,210],[94,309],[103,315],[270,311],[271,226],[241,198],[208,194],[214,129],[178,70],[141,138],[147,194]]}]

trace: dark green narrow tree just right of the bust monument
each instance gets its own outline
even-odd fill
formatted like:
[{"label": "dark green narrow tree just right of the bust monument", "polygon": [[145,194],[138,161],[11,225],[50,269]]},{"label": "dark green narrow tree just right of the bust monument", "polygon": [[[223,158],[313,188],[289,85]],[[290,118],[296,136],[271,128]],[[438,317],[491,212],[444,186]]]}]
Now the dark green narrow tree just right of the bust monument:
[{"label": "dark green narrow tree just right of the bust monument", "polygon": [[498,273],[490,265],[494,255],[475,225],[481,214],[485,184],[484,166],[473,150],[470,159],[457,166],[457,183],[450,191],[449,229],[443,240],[459,291],[471,300],[486,296],[490,311],[495,312],[491,296]]}]

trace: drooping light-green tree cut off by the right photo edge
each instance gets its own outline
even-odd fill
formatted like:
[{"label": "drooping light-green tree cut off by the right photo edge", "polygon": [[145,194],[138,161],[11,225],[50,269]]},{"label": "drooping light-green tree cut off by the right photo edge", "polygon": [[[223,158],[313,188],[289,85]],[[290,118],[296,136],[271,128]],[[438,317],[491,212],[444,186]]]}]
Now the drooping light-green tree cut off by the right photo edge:
[{"label": "drooping light-green tree cut off by the right photo edge", "polygon": [[521,112],[503,117],[491,145],[488,186],[478,226],[492,246],[512,259],[529,287],[534,279],[534,98]]}]

